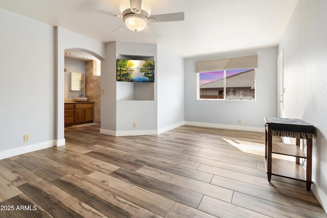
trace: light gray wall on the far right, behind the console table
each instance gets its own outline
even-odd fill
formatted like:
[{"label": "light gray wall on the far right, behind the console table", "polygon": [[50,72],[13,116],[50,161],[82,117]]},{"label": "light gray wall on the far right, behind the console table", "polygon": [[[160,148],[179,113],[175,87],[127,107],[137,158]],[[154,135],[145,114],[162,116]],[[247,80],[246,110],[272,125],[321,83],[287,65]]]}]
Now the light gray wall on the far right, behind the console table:
[{"label": "light gray wall on the far right, behind the console table", "polygon": [[327,4],[299,0],[278,45],[284,50],[284,112],[316,127],[313,192],[327,211]]}]

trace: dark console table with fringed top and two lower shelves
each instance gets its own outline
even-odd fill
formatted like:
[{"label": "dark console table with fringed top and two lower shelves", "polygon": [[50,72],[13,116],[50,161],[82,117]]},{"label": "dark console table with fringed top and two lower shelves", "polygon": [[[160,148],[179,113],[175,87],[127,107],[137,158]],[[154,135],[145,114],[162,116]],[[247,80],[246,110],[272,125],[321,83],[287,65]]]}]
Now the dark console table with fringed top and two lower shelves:
[{"label": "dark console table with fringed top and two lower shelves", "polygon": [[[301,119],[264,117],[266,140],[265,162],[268,181],[271,175],[295,179],[307,183],[307,190],[311,189],[312,174],[312,138],[315,136],[315,127]],[[272,136],[296,138],[296,144],[273,142]],[[307,152],[300,148],[300,140],[307,140]],[[295,157],[295,162],[273,158],[272,154]],[[300,164],[300,158],[306,159],[306,168]]]}]

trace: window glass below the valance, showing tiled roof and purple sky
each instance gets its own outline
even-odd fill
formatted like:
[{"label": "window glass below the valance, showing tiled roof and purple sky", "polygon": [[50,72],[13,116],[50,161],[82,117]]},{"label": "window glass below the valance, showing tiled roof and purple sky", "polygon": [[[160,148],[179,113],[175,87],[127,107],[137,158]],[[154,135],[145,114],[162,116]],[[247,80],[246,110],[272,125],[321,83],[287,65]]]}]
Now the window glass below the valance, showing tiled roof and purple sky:
[{"label": "window glass below the valance, showing tiled roof and purple sky", "polygon": [[255,68],[201,72],[199,99],[254,100]]}]

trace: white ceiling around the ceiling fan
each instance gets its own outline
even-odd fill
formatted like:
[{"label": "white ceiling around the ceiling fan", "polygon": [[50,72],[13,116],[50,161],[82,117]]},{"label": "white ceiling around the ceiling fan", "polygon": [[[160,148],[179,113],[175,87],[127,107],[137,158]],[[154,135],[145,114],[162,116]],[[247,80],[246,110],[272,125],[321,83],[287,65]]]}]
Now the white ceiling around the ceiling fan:
[{"label": "white ceiling around the ceiling fan", "polygon": [[298,0],[143,0],[151,14],[184,12],[185,20],[150,23],[132,32],[123,19],[91,12],[88,6],[121,14],[123,0],[1,0],[0,7],[102,42],[159,44],[187,58],[260,47],[281,40]]}]

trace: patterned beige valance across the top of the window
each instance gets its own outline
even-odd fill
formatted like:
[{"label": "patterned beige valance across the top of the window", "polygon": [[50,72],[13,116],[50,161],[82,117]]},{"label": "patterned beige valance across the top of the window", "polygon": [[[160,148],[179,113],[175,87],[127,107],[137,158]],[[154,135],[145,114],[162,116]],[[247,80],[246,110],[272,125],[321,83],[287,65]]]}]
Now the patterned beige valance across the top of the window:
[{"label": "patterned beige valance across the top of the window", "polygon": [[225,58],[195,63],[195,72],[211,72],[228,69],[249,69],[258,67],[258,55],[238,58]]}]

